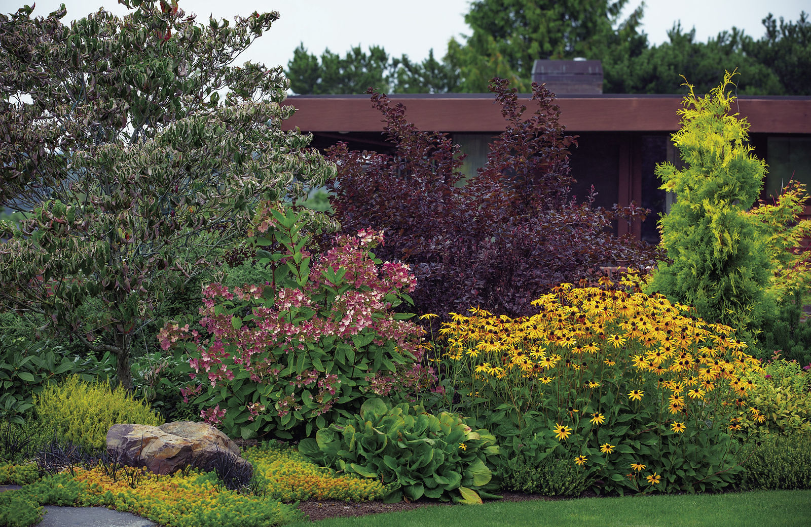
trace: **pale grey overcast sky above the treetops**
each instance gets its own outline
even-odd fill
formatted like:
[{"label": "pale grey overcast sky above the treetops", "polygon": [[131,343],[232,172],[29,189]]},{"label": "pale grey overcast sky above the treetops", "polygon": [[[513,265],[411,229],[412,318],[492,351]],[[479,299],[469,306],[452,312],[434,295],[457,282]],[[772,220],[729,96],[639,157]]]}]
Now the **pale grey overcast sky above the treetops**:
[{"label": "pale grey overcast sky above the treetops", "polygon": [[[125,15],[127,8],[117,2],[105,0],[39,0],[35,15],[47,15],[67,6],[63,22],[79,19],[98,11]],[[630,0],[626,11],[631,12],[641,0]],[[16,11],[27,2],[0,0],[0,12]],[[251,45],[239,62],[250,59],[266,66],[287,66],[299,42],[316,55],[324,48],[344,54],[354,45],[364,50],[369,45],[381,45],[390,55],[407,54],[412,60],[422,61],[433,48],[440,59],[452,36],[469,34],[464,15],[469,11],[469,0],[406,0],[405,2],[369,2],[367,0],[179,0],[179,6],[188,14],[198,15],[204,22],[208,15],[232,19],[234,15],[249,15],[253,11],[279,11],[281,18]],[[787,20],[800,18],[800,11],[811,11],[808,0],[648,0],[642,29],[651,44],[667,40],[667,30],[680,19],[682,28],[696,28],[698,40],[706,41],[718,32],[732,26],[742,28],[756,38],[763,35],[761,20],[770,12]]]}]

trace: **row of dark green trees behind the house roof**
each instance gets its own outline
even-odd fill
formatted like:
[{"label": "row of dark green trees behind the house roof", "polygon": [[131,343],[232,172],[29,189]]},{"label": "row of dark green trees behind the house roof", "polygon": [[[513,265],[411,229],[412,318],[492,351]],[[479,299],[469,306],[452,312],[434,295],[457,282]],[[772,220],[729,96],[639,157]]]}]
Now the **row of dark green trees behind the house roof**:
[{"label": "row of dark green trees behind the house roof", "polygon": [[602,61],[605,93],[675,93],[680,75],[704,93],[726,65],[744,76],[740,94],[811,94],[811,23],[805,11],[796,23],[782,17],[778,23],[769,13],[758,39],[732,27],[701,42],[694,28],[685,31],[676,21],[666,42],[649,45],[642,32],[645,6],[622,19],[627,5],[627,0],[477,0],[465,15],[470,33],[453,37],[441,62],[433,50],[420,63],[405,55],[388,57],[382,46],[371,46],[368,55],[354,48],[345,57],[327,49],[319,61],[301,45],[286,74],[298,94],[363,93],[370,86],[388,93],[481,93],[493,77],[528,92],[535,60],[586,57]]}]

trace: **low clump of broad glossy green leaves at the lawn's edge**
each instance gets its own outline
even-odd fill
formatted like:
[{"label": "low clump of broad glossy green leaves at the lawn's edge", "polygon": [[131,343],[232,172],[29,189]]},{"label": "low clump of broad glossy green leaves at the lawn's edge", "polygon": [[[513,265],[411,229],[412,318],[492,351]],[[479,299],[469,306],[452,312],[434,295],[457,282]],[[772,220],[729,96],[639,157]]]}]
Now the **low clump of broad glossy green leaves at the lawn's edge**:
[{"label": "low clump of broad glossy green leaves at the lawn's edge", "polygon": [[359,415],[321,428],[298,451],[324,465],[380,478],[387,501],[432,499],[481,503],[497,488],[487,457],[496,456],[496,438],[474,431],[457,414],[428,414],[423,406],[387,406],[374,397]]}]

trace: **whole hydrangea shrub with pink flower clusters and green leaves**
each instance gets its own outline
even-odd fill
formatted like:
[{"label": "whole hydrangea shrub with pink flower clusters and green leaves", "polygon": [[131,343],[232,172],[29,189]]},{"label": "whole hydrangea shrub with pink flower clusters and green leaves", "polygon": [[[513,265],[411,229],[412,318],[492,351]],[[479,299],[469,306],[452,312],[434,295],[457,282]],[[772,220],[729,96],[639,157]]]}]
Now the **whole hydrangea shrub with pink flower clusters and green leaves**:
[{"label": "whole hydrangea shrub with pink flower clusters and green leaves", "polygon": [[[164,349],[182,342],[202,416],[230,436],[310,436],[360,410],[367,393],[388,396],[430,374],[418,364],[423,330],[395,312],[410,302],[407,266],[371,252],[379,233],[341,236],[320,257],[308,251],[307,210],[265,203],[249,232],[264,283],[204,289],[200,324],[165,326]],[[400,367],[398,369],[398,366]]]}]

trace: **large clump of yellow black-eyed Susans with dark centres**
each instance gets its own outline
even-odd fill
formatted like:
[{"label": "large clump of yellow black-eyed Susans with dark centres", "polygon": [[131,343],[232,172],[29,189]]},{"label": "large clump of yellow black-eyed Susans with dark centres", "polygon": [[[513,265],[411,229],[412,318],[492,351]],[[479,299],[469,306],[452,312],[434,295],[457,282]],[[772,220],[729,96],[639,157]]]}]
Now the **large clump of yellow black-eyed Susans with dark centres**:
[{"label": "large clump of yellow black-eyed Susans with dark centres", "polygon": [[601,283],[561,284],[531,317],[454,313],[437,345],[444,394],[431,396],[491,428],[501,470],[551,456],[601,482],[595,491],[726,487],[741,418],[759,414],[747,374],[760,362],[732,328],[646,295],[633,274]]}]

